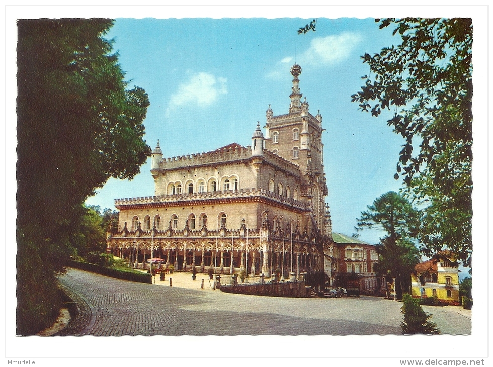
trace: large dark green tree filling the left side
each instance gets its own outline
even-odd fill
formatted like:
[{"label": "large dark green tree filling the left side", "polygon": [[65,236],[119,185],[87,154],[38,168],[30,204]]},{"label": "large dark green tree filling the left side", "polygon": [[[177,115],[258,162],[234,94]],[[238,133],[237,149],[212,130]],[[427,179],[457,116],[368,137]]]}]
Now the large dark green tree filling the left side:
[{"label": "large dark green tree filling the left side", "polygon": [[[148,96],[127,88],[113,42],[104,38],[112,25],[18,21],[18,271],[33,252],[47,271],[63,271],[85,199],[109,177],[133,178],[150,156],[142,125]],[[21,334],[33,331],[23,323],[31,312],[23,280],[36,283],[18,278]]]}]

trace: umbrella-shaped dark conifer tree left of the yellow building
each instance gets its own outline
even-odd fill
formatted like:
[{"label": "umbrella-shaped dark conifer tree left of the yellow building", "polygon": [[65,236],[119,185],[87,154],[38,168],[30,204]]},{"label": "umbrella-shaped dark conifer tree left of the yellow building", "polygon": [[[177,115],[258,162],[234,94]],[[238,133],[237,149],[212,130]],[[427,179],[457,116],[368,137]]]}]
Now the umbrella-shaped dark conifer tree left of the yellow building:
[{"label": "umbrella-shaped dark conifer tree left of the yellow building", "polygon": [[379,263],[376,271],[395,277],[397,298],[409,289],[410,273],[419,262],[418,249],[411,239],[420,227],[420,213],[408,200],[389,191],[377,198],[361,213],[356,230],[375,228],[386,232],[377,246]]}]

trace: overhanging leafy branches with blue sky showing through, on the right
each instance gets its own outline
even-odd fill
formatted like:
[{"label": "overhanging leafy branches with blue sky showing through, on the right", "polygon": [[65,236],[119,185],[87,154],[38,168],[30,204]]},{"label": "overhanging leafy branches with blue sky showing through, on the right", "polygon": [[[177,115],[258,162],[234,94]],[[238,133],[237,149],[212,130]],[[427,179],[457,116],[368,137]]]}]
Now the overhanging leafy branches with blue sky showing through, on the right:
[{"label": "overhanging leafy branches with blue sky showing through, on the right", "polygon": [[405,142],[397,173],[424,211],[421,250],[452,250],[471,266],[472,21],[382,19],[401,43],[362,56],[371,74],[352,95],[362,111],[394,112],[387,125]]}]

